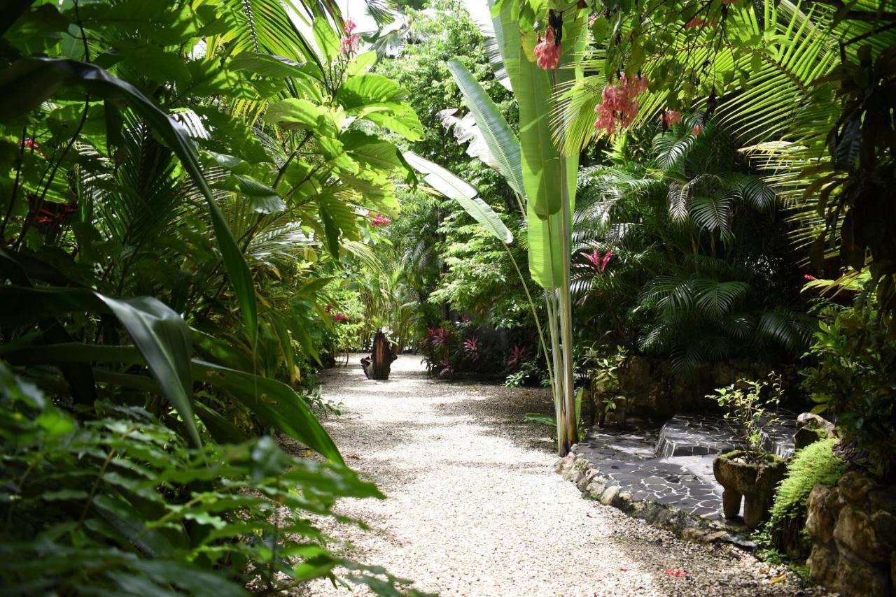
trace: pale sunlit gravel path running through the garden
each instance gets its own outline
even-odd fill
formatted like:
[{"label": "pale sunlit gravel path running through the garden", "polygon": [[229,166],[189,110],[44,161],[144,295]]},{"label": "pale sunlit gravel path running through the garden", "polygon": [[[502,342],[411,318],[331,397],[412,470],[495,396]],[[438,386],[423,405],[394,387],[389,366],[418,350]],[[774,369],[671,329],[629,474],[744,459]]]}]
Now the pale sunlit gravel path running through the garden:
[{"label": "pale sunlit gravel path running through the garden", "polygon": [[[429,380],[416,356],[368,381],[359,357],[323,375],[323,396],[344,410],[326,427],[388,499],[340,503],[368,531],[324,521],[344,555],[443,595],[797,593],[792,574],[772,584],[777,571],[740,550],[682,542],[582,499],[553,472],[547,427],[522,421],[553,412],[547,391]],[[321,580],[304,593],[347,592]]]}]

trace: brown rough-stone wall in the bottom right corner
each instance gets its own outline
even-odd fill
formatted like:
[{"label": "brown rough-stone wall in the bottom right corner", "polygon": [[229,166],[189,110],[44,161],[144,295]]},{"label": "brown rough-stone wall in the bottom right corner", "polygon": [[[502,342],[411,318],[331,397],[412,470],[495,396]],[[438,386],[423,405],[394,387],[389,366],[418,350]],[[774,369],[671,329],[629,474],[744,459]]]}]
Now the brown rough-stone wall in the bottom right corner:
[{"label": "brown rough-stone wall in the bottom right corner", "polygon": [[814,546],[809,571],[830,591],[892,595],[896,587],[896,487],[883,488],[861,473],[836,487],[815,485],[806,530]]}]

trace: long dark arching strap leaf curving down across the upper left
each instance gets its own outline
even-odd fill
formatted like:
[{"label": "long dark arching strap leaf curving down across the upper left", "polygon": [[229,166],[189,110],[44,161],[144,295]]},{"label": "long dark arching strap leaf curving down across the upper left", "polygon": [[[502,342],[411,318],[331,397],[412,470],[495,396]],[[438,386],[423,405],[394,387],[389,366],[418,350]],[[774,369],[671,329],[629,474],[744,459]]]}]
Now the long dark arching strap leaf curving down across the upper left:
[{"label": "long dark arching strap leaf curving down across the upper left", "polygon": [[208,203],[224,266],[237,294],[246,328],[250,337],[254,337],[257,333],[258,314],[252,275],[237,246],[237,240],[230,232],[202,175],[194,143],[183,125],[162,112],[133,85],[112,76],[95,64],[44,57],[22,58],[0,74],[0,120],[26,114],[39,107],[60,87],[73,84],[82,85],[93,97],[125,101],[180,158],[186,172]]}]

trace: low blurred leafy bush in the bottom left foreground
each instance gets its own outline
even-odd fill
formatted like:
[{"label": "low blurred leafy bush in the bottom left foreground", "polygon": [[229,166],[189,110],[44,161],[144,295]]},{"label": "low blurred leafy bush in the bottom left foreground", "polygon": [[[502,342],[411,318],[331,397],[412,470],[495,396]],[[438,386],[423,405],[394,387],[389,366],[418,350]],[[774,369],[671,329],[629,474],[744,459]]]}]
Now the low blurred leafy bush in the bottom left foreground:
[{"label": "low blurred leafy bush in the bottom left foreground", "polygon": [[[10,593],[245,594],[356,570],[311,516],[382,498],[345,465],[286,455],[270,437],[190,448],[136,406],[54,405],[0,362],[0,583]],[[391,579],[387,581],[392,583]]]}]

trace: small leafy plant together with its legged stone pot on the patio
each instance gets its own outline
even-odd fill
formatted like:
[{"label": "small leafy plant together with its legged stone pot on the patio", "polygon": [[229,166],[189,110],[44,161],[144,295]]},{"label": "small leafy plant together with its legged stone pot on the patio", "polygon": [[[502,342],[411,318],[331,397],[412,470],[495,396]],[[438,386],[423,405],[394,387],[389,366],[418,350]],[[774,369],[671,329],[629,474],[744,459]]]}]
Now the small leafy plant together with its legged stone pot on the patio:
[{"label": "small leafy plant together with its legged stone pot on the patio", "polygon": [[[767,397],[762,397],[763,391]],[[723,488],[722,510],[726,518],[734,518],[743,499],[744,524],[751,529],[768,516],[775,488],[787,472],[783,458],[762,448],[764,430],[779,421],[774,409],[781,393],[780,376],[771,373],[768,382],[737,380],[707,395],[725,408],[725,420],[743,445],[712,462],[712,472]]]}]

